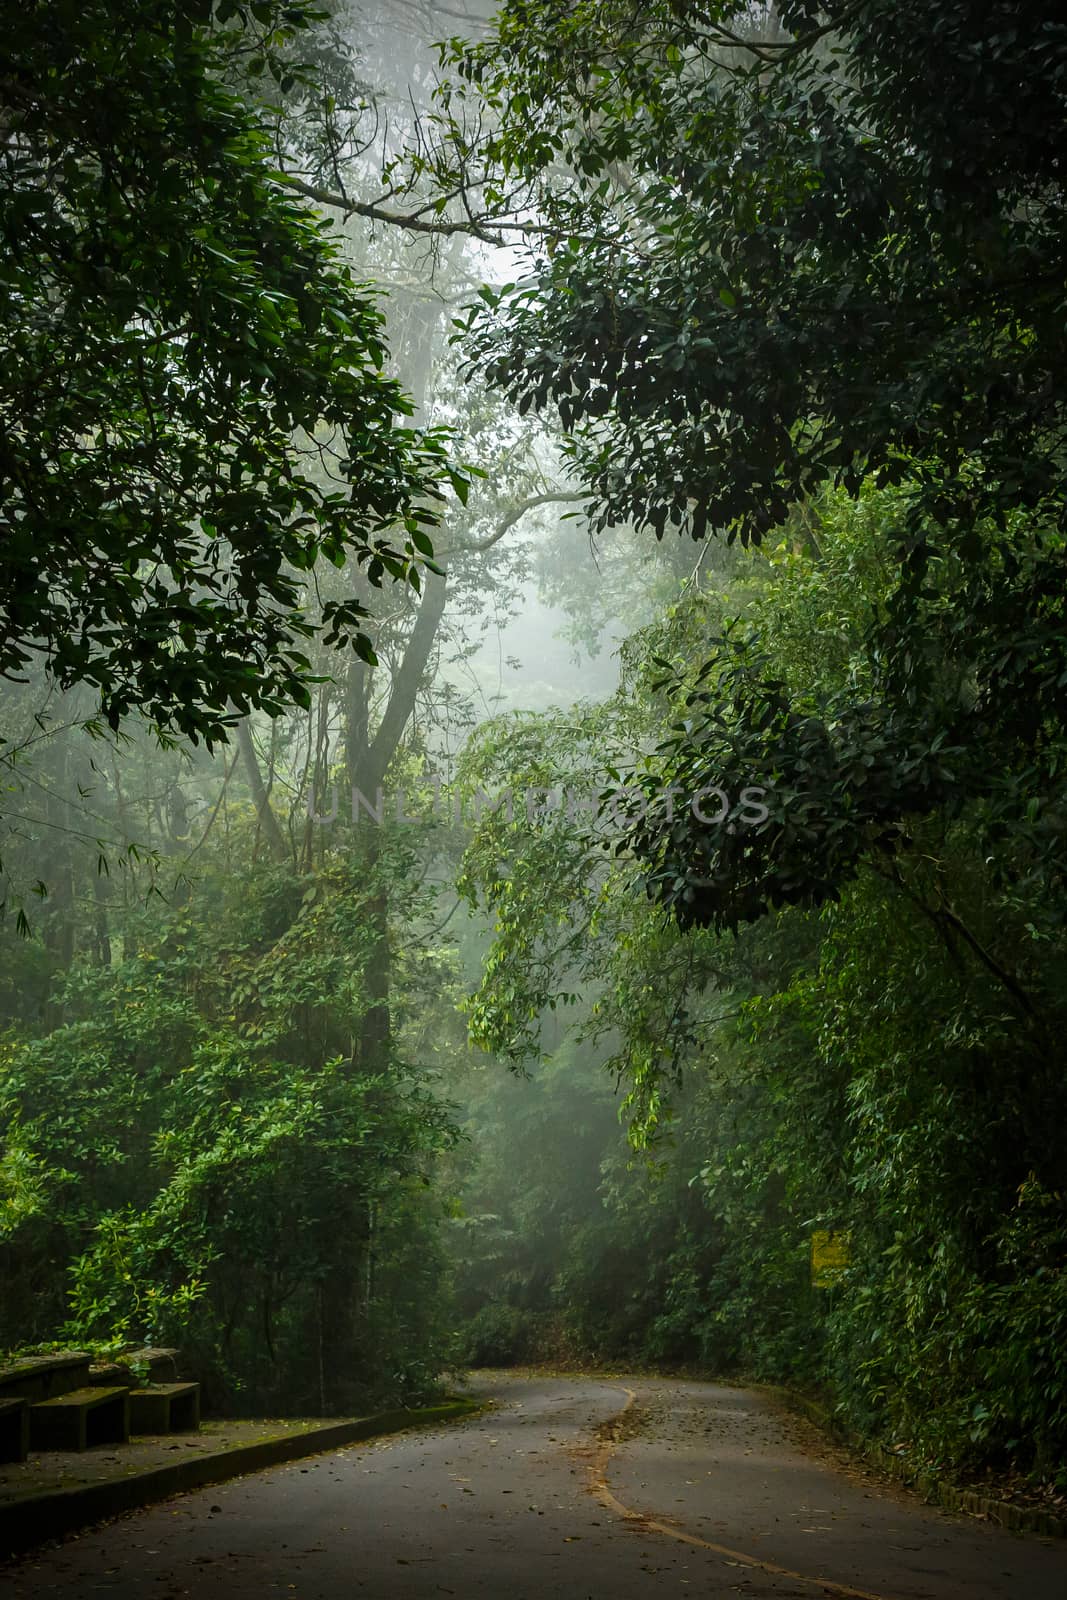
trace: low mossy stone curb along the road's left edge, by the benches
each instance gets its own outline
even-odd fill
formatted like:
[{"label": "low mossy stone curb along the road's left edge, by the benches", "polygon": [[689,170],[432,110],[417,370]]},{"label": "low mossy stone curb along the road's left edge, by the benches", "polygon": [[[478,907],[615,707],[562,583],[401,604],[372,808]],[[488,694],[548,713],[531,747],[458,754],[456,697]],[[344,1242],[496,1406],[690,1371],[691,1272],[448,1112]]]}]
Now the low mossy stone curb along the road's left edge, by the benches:
[{"label": "low mossy stone curb along the road's left edge, by the benches", "polygon": [[126,1510],[138,1510],[154,1501],[170,1499],[187,1490],[222,1483],[245,1472],[261,1472],[264,1467],[302,1456],[317,1456],[325,1450],[341,1450],[362,1438],[381,1434],[398,1434],[408,1427],[429,1422],[448,1422],[474,1416],[485,1410],[478,1400],[446,1400],[442,1405],[418,1410],[378,1411],[374,1416],[350,1418],[346,1422],[330,1422],[309,1429],[306,1434],[286,1434],[278,1438],[261,1438],[251,1445],[234,1445],[211,1456],[195,1456],[165,1467],[150,1467],[131,1477],[112,1478],[106,1483],[83,1483],[70,1490],[48,1490],[43,1494],[27,1494],[24,1499],[0,1506],[0,1555],[16,1555],[45,1544],[75,1528],[94,1522],[107,1522]]}]

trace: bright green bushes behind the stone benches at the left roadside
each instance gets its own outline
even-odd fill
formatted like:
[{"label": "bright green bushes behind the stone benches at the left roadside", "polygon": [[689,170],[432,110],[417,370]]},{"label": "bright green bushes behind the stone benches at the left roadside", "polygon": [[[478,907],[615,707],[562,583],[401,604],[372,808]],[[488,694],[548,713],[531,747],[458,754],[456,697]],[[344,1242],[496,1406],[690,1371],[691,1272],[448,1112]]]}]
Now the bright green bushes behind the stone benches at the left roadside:
[{"label": "bright green bushes behind the stone benches at the left roadside", "polygon": [[349,846],[310,880],[235,843],[59,978],[59,1026],[8,1035],[0,1342],[179,1342],[213,1405],[426,1392],[454,1128],[426,1066],[352,1061],[403,856],[368,875]]}]

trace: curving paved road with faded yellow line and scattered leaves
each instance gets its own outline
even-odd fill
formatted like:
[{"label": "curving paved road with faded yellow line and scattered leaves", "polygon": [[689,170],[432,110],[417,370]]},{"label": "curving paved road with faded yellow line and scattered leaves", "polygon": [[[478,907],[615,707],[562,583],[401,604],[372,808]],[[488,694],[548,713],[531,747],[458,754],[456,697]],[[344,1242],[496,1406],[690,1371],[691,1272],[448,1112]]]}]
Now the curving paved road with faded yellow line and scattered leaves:
[{"label": "curving paved road with faded yellow line and scattered leaves", "polygon": [[1067,1600],[1067,1546],[878,1488],[758,1395],[498,1376],[461,1426],[139,1512],[0,1570],[0,1600]]}]

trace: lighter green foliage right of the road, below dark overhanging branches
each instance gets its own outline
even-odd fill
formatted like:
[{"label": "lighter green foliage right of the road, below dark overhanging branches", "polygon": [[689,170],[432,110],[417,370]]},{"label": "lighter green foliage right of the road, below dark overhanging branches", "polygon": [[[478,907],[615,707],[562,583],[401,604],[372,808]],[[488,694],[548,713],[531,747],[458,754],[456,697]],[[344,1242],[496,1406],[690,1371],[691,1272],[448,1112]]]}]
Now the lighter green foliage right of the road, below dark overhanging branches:
[{"label": "lighter green foliage right of the road, below dark overhanging branches", "polygon": [[[896,514],[894,491],[859,507],[829,494],[809,539],[733,576],[712,570],[635,635],[614,701],[480,730],[469,781],[499,790],[552,771],[577,786],[627,744],[651,749],[694,688],[707,693],[709,630],[758,632],[784,698],[862,682]],[[709,701],[728,738],[729,696]],[[646,757],[651,779],[657,762]],[[542,1018],[573,1016],[579,1061],[627,1085],[635,1142],[662,1171],[641,1198],[601,1134],[585,1214],[544,1250],[539,1312],[585,1355],[822,1382],[853,1426],[913,1458],[1054,1475],[1067,1450],[1067,944],[1037,808],[1030,830],[1001,824],[995,854],[981,802],[944,808],[819,915],[789,909],[737,936],[681,930],[649,901],[625,816],[614,830],[609,816],[557,805],[531,829],[486,813],[461,880],[496,928],[475,1037],[525,1062],[544,1048]],[[537,1077],[542,1102],[560,1070]],[[563,1094],[558,1106],[566,1150],[576,1118]],[[501,1138],[488,1117],[485,1133]],[[491,1173],[472,1189],[486,1213],[507,1195]],[[566,1186],[541,1182],[552,1218]],[[817,1229],[851,1243],[832,1290],[811,1282]],[[485,1282],[477,1254],[466,1270]],[[523,1304],[525,1288],[499,1285],[496,1301]],[[475,1347],[483,1333],[475,1320]]]}]

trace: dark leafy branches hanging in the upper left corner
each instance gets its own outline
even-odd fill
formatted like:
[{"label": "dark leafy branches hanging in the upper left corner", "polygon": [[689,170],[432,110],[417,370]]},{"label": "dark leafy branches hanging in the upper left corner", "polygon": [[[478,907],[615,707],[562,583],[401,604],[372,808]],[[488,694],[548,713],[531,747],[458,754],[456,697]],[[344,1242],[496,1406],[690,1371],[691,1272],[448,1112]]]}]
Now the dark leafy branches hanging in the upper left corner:
[{"label": "dark leafy branches hanging in the upper left corner", "polygon": [[322,555],[419,584],[440,432],[384,373],[382,317],[328,226],[277,182],[227,85],[296,82],[307,0],[5,8],[0,75],[0,672],[45,658],[218,739],[306,702]]}]

